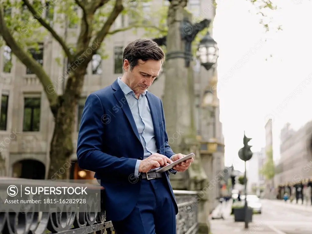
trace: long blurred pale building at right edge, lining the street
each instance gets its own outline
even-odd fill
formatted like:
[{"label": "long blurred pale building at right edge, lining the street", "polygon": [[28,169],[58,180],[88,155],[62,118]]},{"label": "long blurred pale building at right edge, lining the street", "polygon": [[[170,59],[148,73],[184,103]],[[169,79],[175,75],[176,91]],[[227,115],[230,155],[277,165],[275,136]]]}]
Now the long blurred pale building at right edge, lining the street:
[{"label": "long blurred pale building at right edge, lining the street", "polygon": [[303,198],[308,204],[311,204],[311,200],[304,199],[304,196],[312,195],[309,188],[309,182],[312,181],[311,132],[312,121],[297,131],[289,123],[285,124],[280,132],[280,162],[274,178],[275,184],[283,188],[278,191],[279,196],[287,192],[294,198]]}]

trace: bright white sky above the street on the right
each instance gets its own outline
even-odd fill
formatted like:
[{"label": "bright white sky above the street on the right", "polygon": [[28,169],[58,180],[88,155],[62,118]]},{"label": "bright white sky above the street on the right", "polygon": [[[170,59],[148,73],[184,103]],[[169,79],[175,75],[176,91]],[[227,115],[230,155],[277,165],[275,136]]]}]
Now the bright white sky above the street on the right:
[{"label": "bright white sky above the street on the right", "polygon": [[[252,138],[252,151],[259,151],[265,146],[264,125],[271,116],[273,157],[278,160],[283,125],[290,122],[299,129],[312,119],[312,1],[273,2],[281,9],[270,11],[272,26],[282,25],[283,31],[266,33],[255,7],[246,0],[219,0],[213,22],[220,54],[217,90],[225,165],[234,161],[240,171],[244,163],[237,154],[244,130]],[[239,65],[240,60],[245,63]]]}]

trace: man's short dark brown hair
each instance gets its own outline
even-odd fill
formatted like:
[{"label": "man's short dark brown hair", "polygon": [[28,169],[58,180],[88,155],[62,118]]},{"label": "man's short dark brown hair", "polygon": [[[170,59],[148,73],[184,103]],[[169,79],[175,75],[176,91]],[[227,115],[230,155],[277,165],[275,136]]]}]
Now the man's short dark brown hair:
[{"label": "man's short dark brown hair", "polygon": [[132,69],[138,65],[139,59],[142,59],[143,61],[153,59],[156,61],[161,60],[163,62],[165,54],[155,41],[140,38],[129,43],[124,49],[122,64],[124,64],[125,59],[128,59],[130,63],[130,71],[132,71]]}]

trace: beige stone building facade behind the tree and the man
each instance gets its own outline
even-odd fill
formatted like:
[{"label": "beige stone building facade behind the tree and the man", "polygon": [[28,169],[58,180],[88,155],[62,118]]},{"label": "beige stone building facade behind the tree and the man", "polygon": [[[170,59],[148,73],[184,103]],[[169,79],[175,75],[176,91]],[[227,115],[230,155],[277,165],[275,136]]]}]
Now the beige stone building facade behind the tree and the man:
[{"label": "beige stone building facade behind the tree and the man", "polygon": [[[169,2],[153,0],[149,3],[144,3],[144,12],[148,15],[152,11],[152,6],[154,9],[154,7],[159,7],[161,4],[169,4]],[[193,14],[194,22],[198,22],[204,18],[213,19],[215,15],[215,8],[211,1],[189,0],[188,9]],[[51,16],[51,14],[48,15],[45,12],[43,14],[46,17],[56,18],[56,15]],[[78,15],[81,16],[80,11],[78,11]],[[131,20],[129,15],[120,15],[112,26],[112,30],[127,27]],[[61,36],[64,36],[70,44],[76,41],[79,25],[70,24],[68,27],[57,27],[55,25],[54,29]],[[122,76],[121,63],[123,49],[129,42],[142,37],[144,33],[145,31],[143,29],[137,29],[136,32],[128,30],[111,35],[104,41],[104,50],[108,58],[102,60],[98,55],[93,57],[93,61],[90,62],[88,72],[85,76],[81,99],[77,107],[75,120],[76,131],[73,134],[74,149],[77,144],[78,129],[86,97],[95,90],[110,85],[117,77]],[[34,53],[31,50],[30,52],[42,64],[46,73],[53,80],[52,82],[56,87],[56,92],[61,95],[65,85],[63,77],[66,78],[67,69],[66,58],[62,57],[61,46],[58,42],[52,40],[51,37],[46,37],[42,41],[39,52]],[[40,81],[34,74],[31,74],[31,71],[26,66],[17,61],[9,47],[2,46],[0,48],[0,55],[0,142],[2,142],[0,153],[4,159],[4,163],[2,164],[5,165],[2,167],[2,175],[21,178],[46,178],[50,160],[50,140],[54,127],[48,100],[43,92]],[[64,62],[60,66],[57,61]],[[12,63],[12,67],[8,66],[10,63]],[[198,134],[205,141],[213,138],[222,145],[224,141],[222,124],[219,121],[219,107],[217,106],[214,112],[209,114],[210,110],[202,110],[200,106],[203,92],[211,85],[213,72],[206,71],[200,65],[195,66],[196,103],[194,105],[196,105],[197,110]],[[160,74],[158,80],[149,89],[150,92],[160,98],[163,97],[164,79],[164,75]],[[217,81],[215,80],[215,82]],[[69,165],[73,164],[71,167],[71,178],[92,177],[90,172],[82,171],[78,167],[77,163],[75,163],[76,160],[76,152],[74,152],[71,156],[71,162],[66,163],[56,173],[64,173],[65,170],[70,168]],[[212,157],[211,178],[219,173],[223,166],[224,147],[217,150]],[[217,187],[212,193],[213,196],[218,194]]]}]

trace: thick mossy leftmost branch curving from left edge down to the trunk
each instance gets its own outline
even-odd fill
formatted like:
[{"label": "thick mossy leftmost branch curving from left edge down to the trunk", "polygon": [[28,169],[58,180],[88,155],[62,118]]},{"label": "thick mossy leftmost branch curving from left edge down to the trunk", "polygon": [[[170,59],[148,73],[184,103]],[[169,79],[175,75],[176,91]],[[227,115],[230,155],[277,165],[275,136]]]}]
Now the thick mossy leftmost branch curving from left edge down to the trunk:
[{"label": "thick mossy leftmost branch curving from left edge down to the trunk", "polygon": [[58,95],[55,92],[55,85],[52,84],[50,77],[43,70],[41,65],[36,62],[31,56],[29,56],[15,41],[11,32],[9,31],[6,23],[4,22],[2,15],[2,6],[0,5],[0,35],[4,41],[11,48],[14,55],[28,68],[31,68],[37,78],[40,80],[43,90],[46,93],[46,97],[49,100],[52,113],[55,113],[55,109],[58,106]]}]

